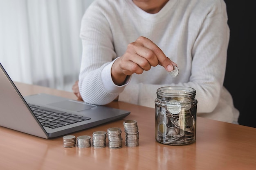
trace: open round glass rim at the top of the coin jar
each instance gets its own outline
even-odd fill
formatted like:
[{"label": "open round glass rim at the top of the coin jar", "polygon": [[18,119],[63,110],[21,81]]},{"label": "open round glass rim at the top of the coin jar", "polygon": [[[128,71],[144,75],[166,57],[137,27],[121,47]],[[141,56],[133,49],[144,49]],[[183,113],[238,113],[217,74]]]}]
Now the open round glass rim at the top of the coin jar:
[{"label": "open round glass rim at the top of the coin jar", "polygon": [[157,95],[161,96],[191,96],[195,94],[195,89],[185,86],[166,86],[157,89]]}]

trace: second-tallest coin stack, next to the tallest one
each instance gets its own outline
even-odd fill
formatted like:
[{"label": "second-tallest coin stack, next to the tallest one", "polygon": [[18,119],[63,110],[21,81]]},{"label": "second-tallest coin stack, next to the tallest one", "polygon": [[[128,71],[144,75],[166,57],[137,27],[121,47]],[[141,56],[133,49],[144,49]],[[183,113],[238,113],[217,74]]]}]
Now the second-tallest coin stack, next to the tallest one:
[{"label": "second-tallest coin stack, next to the tallest one", "polygon": [[111,149],[117,149],[122,147],[121,129],[113,127],[108,129],[108,147]]}]

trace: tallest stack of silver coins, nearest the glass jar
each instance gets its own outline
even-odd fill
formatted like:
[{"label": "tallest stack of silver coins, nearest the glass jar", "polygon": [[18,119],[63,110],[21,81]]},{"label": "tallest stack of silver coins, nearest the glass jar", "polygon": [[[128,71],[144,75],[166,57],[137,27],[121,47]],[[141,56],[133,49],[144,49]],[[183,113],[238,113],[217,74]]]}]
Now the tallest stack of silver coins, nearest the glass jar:
[{"label": "tallest stack of silver coins, nearest the glass jar", "polygon": [[124,121],[125,145],[136,147],[139,145],[139,128],[136,120]]}]

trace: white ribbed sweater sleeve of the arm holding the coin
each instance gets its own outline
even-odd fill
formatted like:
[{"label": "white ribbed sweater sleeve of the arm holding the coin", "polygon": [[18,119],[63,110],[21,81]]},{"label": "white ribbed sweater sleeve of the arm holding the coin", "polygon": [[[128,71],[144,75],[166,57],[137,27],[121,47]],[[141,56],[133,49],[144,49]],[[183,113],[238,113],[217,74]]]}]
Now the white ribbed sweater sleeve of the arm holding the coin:
[{"label": "white ribbed sweater sleeve of the arm holding the coin", "polygon": [[117,58],[110,27],[97,6],[85,12],[80,37],[83,56],[79,74],[79,91],[84,102],[105,105],[113,101],[125,85],[117,86],[111,78],[111,67]]}]

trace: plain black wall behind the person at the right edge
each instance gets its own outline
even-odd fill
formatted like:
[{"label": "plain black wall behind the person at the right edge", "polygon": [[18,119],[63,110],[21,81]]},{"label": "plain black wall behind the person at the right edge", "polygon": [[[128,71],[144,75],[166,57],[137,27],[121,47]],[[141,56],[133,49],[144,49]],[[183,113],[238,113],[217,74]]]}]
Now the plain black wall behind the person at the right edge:
[{"label": "plain black wall behind the person at the right edge", "polygon": [[256,128],[256,0],[225,0],[230,40],[224,86],[240,111],[239,124]]}]

